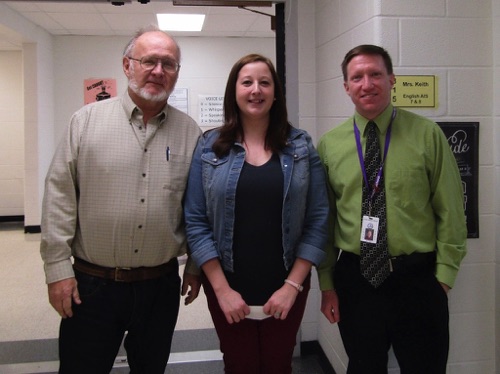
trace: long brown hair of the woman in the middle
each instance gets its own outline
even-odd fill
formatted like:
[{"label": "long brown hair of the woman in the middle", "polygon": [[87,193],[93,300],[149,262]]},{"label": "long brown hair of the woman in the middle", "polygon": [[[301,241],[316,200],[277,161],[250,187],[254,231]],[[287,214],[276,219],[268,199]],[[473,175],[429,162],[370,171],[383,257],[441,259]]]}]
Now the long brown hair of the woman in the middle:
[{"label": "long brown hair of the woman in the middle", "polygon": [[240,119],[240,110],[236,103],[236,82],[243,66],[252,62],[265,63],[271,72],[274,82],[274,102],[269,112],[269,126],[267,129],[265,147],[273,152],[282,150],[287,141],[290,130],[285,96],[281,88],[278,74],[273,63],[267,57],[259,54],[249,54],[240,58],[232,67],[226,84],[224,95],[224,124],[218,129],[219,138],[214,142],[212,149],[218,157],[229,153],[236,141],[243,139],[243,128]]}]

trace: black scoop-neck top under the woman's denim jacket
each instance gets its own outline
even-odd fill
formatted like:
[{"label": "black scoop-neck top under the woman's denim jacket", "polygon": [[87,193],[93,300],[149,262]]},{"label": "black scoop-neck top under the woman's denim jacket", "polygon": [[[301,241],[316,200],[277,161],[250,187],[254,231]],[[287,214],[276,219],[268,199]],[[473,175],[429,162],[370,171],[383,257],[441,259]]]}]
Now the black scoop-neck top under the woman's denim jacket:
[{"label": "black scoop-neck top under the woman's denim jacket", "polygon": [[245,163],[236,188],[234,273],[229,285],[248,305],[264,305],[283,286],[283,173],[278,155],[261,166]]}]

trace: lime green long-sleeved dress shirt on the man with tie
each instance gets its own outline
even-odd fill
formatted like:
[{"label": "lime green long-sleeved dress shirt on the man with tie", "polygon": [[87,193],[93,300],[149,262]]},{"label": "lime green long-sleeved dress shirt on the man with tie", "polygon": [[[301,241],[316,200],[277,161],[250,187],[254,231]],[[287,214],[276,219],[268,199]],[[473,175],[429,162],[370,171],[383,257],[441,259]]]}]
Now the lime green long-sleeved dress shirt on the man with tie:
[{"label": "lime green long-sleeved dress shirt on the man with tie", "polygon": [[[374,119],[381,149],[392,105]],[[318,268],[321,290],[334,289],[339,250],[360,253],[363,175],[353,118],[364,149],[368,119],[354,117],[325,133],[318,152],[326,168],[330,196],[327,258]],[[466,254],[467,226],[463,190],[454,155],[439,126],[397,109],[384,165],[387,235],[391,256],[437,251],[437,279],[453,287]]]}]

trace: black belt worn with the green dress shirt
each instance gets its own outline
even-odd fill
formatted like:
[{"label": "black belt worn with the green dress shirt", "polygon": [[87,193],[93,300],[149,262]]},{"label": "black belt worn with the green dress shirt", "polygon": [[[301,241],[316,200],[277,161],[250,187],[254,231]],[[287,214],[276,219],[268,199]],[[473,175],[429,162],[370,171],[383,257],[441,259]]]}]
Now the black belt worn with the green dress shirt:
[{"label": "black belt worn with the green dress shirt", "polygon": [[[352,252],[342,251],[340,258],[356,261],[359,264],[359,256]],[[409,255],[390,257],[389,268],[395,273],[413,273],[425,270],[434,271],[436,267],[436,252],[413,252]]]}]

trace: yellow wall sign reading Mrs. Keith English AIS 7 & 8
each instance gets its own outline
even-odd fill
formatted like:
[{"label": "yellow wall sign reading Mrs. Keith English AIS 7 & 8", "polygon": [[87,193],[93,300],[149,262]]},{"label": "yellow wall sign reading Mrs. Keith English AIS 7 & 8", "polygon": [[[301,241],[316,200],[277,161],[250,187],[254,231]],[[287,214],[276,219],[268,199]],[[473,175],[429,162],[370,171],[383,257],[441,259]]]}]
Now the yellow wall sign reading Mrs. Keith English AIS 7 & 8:
[{"label": "yellow wall sign reading Mrs. Keith English AIS 7 & 8", "polygon": [[436,76],[396,75],[392,104],[398,107],[435,108]]}]

